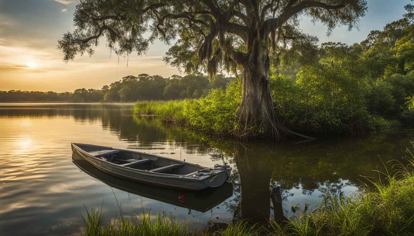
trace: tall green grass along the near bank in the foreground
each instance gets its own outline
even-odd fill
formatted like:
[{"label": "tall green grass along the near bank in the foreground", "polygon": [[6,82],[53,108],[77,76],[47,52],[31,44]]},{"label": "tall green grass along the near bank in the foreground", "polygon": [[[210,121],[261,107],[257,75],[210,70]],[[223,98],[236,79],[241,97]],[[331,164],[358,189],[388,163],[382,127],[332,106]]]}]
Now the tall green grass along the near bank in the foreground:
[{"label": "tall green grass along the near bank in the foreground", "polygon": [[[188,231],[184,221],[172,214],[150,212],[127,217],[120,215],[105,223],[102,209],[91,207],[83,216],[86,236],[306,236],[306,235],[414,235],[414,156],[407,149],[409,164],[400,162],[393,171],[378,172],[383,177],[372,187],[344,196],[325,193],[319,205],[292,206],[296,214],[284,221],[270,220],[259,225],[248,219],[229,224],[208,222],[205,229]],[[370,181],[369,179],[367,179]],[[139,219],[139,220],[137,220]]]}]

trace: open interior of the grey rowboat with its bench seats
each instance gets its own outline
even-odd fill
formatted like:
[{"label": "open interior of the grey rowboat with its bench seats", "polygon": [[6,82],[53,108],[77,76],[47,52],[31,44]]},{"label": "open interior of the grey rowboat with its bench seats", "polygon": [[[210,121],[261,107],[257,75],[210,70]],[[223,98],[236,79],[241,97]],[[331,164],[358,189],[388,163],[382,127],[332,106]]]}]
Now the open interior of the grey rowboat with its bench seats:
[{"label": "open interior of the grey rowboat with its bench seats", "polygon": [[205,169],[205,167],[147,153],[137,153],[93,145],[77,145],[94,157],[131,169],[181,176],[191,176]]}]

